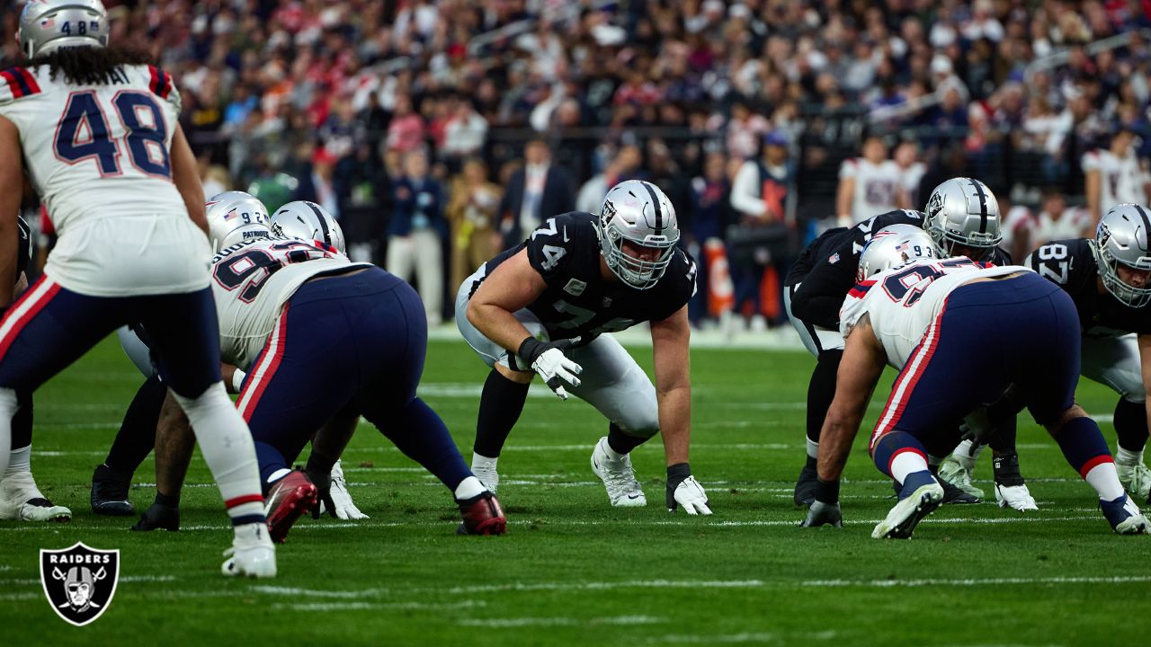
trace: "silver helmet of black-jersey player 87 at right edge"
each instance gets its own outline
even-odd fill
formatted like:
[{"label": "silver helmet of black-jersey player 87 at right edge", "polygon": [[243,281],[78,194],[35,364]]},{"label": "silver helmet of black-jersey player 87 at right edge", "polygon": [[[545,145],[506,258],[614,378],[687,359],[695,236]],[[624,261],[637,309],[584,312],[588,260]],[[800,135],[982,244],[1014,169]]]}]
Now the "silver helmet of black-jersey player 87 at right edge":
[{"label": "silver helmet of black-jersey player 87 at right edge", "polygon": [[1120,264],[1151,271],[1151,213],[1139,205],[1126,204],[1111,207],[1099,219],[1095,231],[1096,262],[1099,277],[1107,291],[1131,307],[1151,303],[1151,286],[1136,288],[1119,277]]}]

